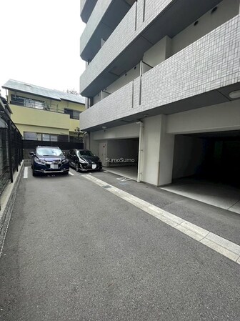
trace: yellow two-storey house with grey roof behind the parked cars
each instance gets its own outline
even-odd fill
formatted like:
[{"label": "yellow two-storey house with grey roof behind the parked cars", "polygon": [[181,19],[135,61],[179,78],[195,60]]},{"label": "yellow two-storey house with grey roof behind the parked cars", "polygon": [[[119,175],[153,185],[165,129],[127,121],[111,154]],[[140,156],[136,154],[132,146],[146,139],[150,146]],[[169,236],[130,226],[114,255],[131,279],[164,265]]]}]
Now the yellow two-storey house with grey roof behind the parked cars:
[{"label": "yellow two-storey house with grey roof behind the parked cars", "polygon": [[79,114],[85,99],[75,94],[10,79],[2,86],[11,108],[11,119],[25,140],[77,141]]}]

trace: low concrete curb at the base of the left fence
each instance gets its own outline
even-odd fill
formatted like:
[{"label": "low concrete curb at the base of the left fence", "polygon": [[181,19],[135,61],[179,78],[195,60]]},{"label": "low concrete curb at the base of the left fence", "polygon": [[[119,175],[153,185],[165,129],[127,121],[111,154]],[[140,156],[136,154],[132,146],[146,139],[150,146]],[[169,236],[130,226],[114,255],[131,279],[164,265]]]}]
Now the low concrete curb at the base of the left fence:
[{"label": "low concrete curb at the base of the left fence", "polygon": [[11,219],[11,212],[14,208],[14,202],[16,199],[16,192],[19,187],[20,178],[24,170],[24,161],[21,162],[19,172],[14,173],[14,182],[9,183],[1,195],[1,211],[0,211],[0,257],[4,247],[4,240],[6,238],[6,232],[9,227]]}]

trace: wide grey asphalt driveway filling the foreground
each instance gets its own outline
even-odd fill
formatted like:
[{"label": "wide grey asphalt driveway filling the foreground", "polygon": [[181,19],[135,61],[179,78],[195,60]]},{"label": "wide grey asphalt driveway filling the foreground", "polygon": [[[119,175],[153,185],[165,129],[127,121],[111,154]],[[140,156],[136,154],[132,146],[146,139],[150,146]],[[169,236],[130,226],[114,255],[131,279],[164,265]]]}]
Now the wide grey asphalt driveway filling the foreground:
[{"label": "wide grey asphalt driveway filling the foreground", "polygon": [[[237,320],[239,265],[141,208],[159,189],[27,172],[1,257],[3,320]],[[181,204],[170,194],[158,199]]]}]

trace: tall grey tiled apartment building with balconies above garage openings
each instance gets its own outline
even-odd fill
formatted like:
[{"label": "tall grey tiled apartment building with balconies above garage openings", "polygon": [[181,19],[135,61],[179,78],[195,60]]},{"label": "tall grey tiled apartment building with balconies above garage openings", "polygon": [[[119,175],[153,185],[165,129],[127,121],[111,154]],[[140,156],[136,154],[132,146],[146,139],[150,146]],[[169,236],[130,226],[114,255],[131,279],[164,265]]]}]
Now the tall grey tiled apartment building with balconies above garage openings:
[{"label": "tall grey tiled apartment building with balconies above garage openings", "polygon": [[81,0],[80,127],[105,166],[239,182],[239,2]]}]

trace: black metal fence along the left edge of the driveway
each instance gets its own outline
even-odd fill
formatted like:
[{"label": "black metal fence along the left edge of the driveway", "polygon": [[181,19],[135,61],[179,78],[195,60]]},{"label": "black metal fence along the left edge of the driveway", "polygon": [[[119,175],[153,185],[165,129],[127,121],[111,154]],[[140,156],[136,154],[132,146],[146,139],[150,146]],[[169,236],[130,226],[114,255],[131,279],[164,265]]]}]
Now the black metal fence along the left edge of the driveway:
[{"label": "black metal fence along the left edge of the driveway", "polygon": [[13,182],[14,172],[18,172],[22,159],[21,134],[10,119],[6,100],[0,97],[0,195],[6,185]]}]

